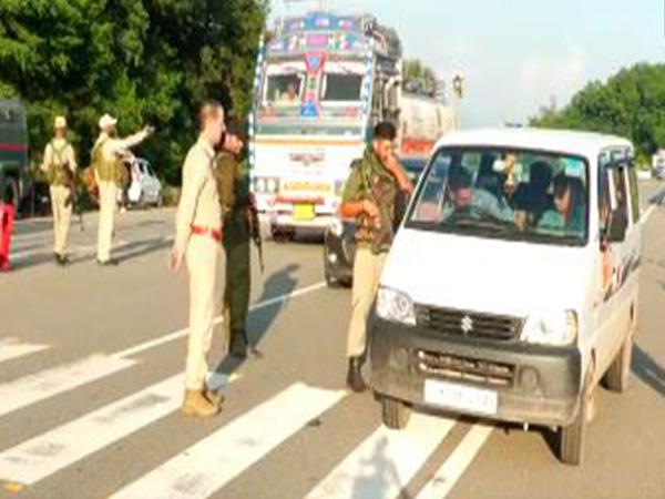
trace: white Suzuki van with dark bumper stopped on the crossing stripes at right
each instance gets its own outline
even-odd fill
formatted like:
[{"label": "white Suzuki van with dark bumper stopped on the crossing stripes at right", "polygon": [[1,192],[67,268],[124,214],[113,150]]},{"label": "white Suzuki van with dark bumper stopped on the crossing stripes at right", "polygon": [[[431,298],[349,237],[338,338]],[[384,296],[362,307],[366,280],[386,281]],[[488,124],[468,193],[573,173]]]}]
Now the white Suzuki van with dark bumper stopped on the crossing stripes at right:
[{"label": "white Suzuki van with dark bumper stopped on the crossing stripes at right", "polygon": [[582,459],[595,388],[623,391],[637,322],[640,200],[624,139],[499,129],[442,139],[377,296],[372,386],[411,408],[543,425]]}]

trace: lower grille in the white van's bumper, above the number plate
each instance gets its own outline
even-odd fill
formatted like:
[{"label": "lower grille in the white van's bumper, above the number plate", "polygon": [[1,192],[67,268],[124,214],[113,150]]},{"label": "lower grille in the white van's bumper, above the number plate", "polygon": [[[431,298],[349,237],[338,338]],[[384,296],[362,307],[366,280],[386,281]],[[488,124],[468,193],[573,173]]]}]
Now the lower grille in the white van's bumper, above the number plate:
[{"label": "lower grille in the white van's bumper, above the number plate", "polygon": [[418,352],[418,368],[426,375],[492,386],[512,385],[515,373],[509,364],[424,350]]}]

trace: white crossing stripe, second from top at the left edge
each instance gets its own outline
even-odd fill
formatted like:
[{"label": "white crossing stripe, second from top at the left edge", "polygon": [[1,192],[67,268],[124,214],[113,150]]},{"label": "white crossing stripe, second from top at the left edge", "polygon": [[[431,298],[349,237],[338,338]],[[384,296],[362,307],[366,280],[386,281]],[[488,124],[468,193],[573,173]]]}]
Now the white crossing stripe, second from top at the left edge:
[{"label": "white crossing stripe, second from top at the left edge", "polygon": [[0,385],[0,416],[126,369],[136,360],[94,355]]}]

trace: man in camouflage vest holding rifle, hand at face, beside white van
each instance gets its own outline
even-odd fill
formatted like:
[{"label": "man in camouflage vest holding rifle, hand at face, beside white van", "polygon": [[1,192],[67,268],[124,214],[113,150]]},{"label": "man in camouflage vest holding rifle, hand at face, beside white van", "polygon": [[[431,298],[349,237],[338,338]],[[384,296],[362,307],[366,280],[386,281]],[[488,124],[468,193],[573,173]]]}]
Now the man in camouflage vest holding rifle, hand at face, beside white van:
[{"label": "man in camouflage vest holding rifle, hand at face, beside white van", "polygon": [[411,193],[413,189],[393,156],[395,138],[391,123],[379,123],[375,128],[374,140],[362,159],[354,162],[342,193],[341,214],[356,218],[358,244],[347,342],[347,385],[357,393],[366,389],[361,368],[367,348],[367,320],[392,243],[397,196],[400,190]]}]

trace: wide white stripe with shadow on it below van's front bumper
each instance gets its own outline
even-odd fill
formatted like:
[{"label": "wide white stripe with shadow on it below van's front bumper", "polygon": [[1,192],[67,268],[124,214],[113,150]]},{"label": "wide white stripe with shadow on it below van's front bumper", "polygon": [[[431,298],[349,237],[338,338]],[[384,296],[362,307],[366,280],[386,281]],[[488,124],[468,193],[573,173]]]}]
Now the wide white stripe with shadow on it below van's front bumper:
[{"label": "wide white stripe with shadow on it below van's front bumper", "polygon": [[349,454],[306,499],[397,497],[456,425],[413,415],[401,431],[380,427]]}]

